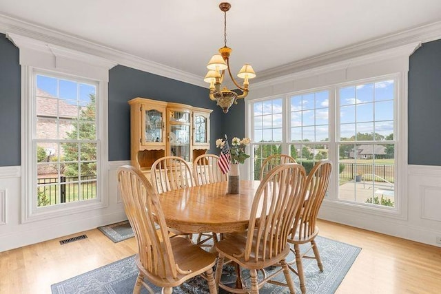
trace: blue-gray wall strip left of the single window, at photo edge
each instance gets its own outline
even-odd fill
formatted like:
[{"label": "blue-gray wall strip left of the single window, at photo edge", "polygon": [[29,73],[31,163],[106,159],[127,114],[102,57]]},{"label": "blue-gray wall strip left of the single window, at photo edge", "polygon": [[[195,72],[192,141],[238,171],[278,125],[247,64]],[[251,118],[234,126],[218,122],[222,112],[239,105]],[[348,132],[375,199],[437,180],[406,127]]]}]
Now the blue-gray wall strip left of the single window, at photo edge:
[{"label": "blue-gray wall strip left of the single window, at photo edge", "polygon": [[20,165],[19,49],[0,34],[0,167]]}]

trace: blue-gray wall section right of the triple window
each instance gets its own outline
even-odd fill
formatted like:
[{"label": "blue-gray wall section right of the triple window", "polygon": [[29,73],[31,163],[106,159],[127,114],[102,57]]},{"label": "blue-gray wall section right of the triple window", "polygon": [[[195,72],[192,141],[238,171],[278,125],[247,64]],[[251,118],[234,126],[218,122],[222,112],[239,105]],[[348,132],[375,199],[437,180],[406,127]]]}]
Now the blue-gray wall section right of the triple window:
[{"label": "blue-gray wall section right of the triple window", "polygon": [[409,165],[441,165],[441,40],[409,63]]}]

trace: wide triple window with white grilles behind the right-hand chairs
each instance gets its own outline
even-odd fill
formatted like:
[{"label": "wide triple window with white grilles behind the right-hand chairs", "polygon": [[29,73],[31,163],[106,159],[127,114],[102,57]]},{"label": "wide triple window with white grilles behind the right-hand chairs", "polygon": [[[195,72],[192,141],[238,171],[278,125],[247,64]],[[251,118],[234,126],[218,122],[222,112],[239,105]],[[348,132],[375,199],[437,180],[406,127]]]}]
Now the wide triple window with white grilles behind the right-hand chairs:
[{"label": "wide triple window with white grilles behind the right-hand chairs", "polygon": [[397,81],[391,76],[249,101],[252,178],[271,154],[290,154],[307,173],[317,160],[330,159],[336,189],[328,198],[395,207]]}]

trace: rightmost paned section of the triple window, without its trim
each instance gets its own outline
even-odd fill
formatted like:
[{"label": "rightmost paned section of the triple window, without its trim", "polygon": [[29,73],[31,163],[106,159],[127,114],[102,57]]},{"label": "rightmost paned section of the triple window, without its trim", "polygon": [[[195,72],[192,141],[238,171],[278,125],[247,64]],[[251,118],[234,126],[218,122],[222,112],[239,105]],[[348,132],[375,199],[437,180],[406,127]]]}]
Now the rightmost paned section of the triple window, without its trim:
[{"label": "rightmost paned section of the triple window, without its trim", "polygon": [[338,88],[338,198],[393,207],[395,144],[393,80]]}]

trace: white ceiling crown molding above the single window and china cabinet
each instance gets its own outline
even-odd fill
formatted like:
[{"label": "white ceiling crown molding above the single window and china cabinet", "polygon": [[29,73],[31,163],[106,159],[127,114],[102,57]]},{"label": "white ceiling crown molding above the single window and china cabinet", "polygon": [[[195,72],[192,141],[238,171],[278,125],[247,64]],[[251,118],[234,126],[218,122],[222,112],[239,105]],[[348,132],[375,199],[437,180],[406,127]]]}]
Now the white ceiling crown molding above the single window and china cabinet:
[{"label": "white ceiling crown molding above the single window and china cabinet", "polygon": [[114,63],[132,67],[136,70],[150,72],[152,74],[157,74],[158,76],[165,76],[167,78],[172,78],[177,81],[182,81],[184,83],[189,83],[200,87],[207,87],[207,84],[203,81],[203,77],[197,76],[196,74],[189,74],[188,72],[178,70],[174,67],[149,61],[147,59],[142,59],[126,52],[81,39],[79,36],[65,34],[63,32],[44,28],[41,25],[21,21],[19,19],[9,17],[6,14],[0,14],[0,32],[5,34],[18,34],[55,46],[69,48],[94,56],[100,56],[103,59],[114,61]]}]

